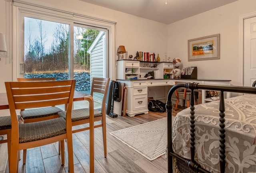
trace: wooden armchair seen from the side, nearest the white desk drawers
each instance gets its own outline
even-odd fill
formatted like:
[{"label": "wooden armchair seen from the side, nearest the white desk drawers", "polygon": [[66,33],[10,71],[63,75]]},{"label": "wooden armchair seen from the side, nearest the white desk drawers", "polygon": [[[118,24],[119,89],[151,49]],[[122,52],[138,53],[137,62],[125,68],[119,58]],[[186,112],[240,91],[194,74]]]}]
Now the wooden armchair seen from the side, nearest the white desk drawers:
[{"label": "wooden armchair seen from the side, nearest the white desk drawers", "polygon": [[[89,127],[78,128],[73,130],[73,133],[90,130],[90,172],[94,172],[94,128],[102,127],[104,157],[107,157],[107,142],[106,142],[106,96],[108,92],[109,78],[92,78],[91,95],[86,96],[84,100],[89,101],[89,108],[72,110],[71,119],[72,126],[88,124]],[[102,97],[101,110],[94,110],[94,97]],[[100,96],[99,96],[100,95]],[[66,111],[58,113],[60,117],[66,119]],[[94,122],[101,121],[100,124],[94,125]]]}]

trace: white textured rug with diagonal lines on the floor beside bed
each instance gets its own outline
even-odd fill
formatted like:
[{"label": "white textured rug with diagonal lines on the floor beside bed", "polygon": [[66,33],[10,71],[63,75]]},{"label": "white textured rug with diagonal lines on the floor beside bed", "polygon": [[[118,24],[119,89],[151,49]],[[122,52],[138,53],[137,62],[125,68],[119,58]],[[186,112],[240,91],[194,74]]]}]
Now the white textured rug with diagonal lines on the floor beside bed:
[{"label": "white textured rug with diagonal lines on the floor beside bed", "polygon": [[167,145],[167,118],[110,132],[150,161],[164,155]]}]

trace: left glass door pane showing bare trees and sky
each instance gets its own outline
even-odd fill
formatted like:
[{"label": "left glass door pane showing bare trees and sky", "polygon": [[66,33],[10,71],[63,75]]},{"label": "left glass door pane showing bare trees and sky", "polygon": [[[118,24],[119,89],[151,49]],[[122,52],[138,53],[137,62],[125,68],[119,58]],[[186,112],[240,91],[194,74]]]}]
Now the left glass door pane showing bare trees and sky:
[{"label": "left glass door pane showing bare trees and sky", "polygon": [[69,79],[70,25],[24,17],[24,77]]}]

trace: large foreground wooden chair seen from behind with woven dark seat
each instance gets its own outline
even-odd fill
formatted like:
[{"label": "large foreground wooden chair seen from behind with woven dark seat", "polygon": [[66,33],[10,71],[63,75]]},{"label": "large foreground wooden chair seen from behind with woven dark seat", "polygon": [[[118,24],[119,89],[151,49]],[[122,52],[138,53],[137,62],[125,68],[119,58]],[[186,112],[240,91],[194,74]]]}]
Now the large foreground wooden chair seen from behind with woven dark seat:
[{"label": "large foreground wooden chair seen from behind with woven dark seat", "polygon": [[[10,172],[17,172],[18,151],[61,141],[64,164],[64,139],[68,143],[69,171],[74,172],[71,110],[75,80],[45,82],[5,82],[12,129],[10,144]],[[40,122],[19,124],[16,110],[67,104],[66,120],[54,118]]]}]

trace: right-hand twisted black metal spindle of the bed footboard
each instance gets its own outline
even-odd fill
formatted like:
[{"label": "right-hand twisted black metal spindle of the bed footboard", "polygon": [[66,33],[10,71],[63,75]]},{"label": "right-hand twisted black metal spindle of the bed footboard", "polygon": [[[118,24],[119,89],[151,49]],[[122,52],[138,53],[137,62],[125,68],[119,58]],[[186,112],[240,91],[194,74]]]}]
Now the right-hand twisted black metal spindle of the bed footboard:
[{"label": "right-hand twisted black metal spindle of the bed footboard", "polygon": [[220,92],[220,108],[219,108],[219,110],[220,110],[220,113],[219,113],[219,116],[220,116],[220,118],[219,118],[219,120],[220,120],[220,139],[219,139],[219,141],[220,141],[220,173],[224,173],[225,172],[225,165],[226,165],[226,161],[225,161],[225,157],[226,157],[226,155],[225,155],[225,153],[226,153],[226,151],[225,151],[225,147],[226,147],[226,145],[225,145],[225,142],[226,142],[226,140],[225,140],[225,132],[226,132],[226,130],[225,130],[225,124],[224,124],[224,122],[225,122],[225,102],[224,102],[224,94],[223,94],[223,91],[221,91]]}]

